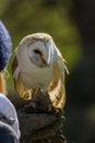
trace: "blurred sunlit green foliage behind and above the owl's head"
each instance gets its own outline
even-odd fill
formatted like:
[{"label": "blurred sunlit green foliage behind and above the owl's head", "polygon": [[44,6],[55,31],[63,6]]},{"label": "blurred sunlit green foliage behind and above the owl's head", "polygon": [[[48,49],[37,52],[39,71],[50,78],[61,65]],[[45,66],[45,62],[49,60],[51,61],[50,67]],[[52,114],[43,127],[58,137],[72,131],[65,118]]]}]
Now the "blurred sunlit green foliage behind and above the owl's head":
[{"label": "blurred sunlit green foliage behind and above the owl's head", "polygon": [[[71,23],[68,9],[70,0],[0,0],[0,16],[12,37],[12,56],[8,70],[11,73],[13,52],[20,41],[27,34],[49,33],[72,70],[81,58],[80,35]],[[11,77],[7,78],[12,90]],[[11,86],[10,86],[11,85]]]}]

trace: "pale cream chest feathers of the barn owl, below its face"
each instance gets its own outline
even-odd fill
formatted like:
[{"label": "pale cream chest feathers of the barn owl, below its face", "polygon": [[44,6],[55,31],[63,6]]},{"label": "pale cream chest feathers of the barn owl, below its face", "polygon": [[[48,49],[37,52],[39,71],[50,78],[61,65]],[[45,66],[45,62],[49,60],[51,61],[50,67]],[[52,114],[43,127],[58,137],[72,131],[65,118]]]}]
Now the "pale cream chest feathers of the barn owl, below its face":
[{"label": "pale cream chest feathers of the barn owl, below its face", "polygon": [[21,78],[23,84],[27,88],[36,88],[40,86],[41,88],[47,88],[54,76],[54,66],[39,68],[35,65],[27,65],[25,70],[22,70]]}]

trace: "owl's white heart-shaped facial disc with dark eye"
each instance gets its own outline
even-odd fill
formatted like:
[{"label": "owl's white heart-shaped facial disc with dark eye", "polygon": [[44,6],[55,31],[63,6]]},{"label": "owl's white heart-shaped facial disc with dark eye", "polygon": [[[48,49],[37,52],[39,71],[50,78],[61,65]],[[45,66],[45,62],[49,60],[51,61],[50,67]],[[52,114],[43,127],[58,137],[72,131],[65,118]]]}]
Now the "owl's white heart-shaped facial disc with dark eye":
[{"label": "owl's white heart-shaped facial disc with dark eye", "polygon": [[50,42],[36,41],[28,45],[27,55],[29,61],[38,67],[48,67],[50,64]]}]

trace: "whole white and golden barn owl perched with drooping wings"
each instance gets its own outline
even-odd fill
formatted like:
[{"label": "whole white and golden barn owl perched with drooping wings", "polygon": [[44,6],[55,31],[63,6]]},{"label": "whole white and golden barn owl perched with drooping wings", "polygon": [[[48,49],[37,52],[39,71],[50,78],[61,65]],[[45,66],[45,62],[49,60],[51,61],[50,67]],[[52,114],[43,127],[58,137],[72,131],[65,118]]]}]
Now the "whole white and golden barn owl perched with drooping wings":
[{"label": "whole white and golden barn owl perched with drooping wings", "polygon": [[66,103],[64,58],[52,37],[46,33],[25,36],[12,63],[14,87],[23,99],[32,99],[39,87],[56,108]]}]

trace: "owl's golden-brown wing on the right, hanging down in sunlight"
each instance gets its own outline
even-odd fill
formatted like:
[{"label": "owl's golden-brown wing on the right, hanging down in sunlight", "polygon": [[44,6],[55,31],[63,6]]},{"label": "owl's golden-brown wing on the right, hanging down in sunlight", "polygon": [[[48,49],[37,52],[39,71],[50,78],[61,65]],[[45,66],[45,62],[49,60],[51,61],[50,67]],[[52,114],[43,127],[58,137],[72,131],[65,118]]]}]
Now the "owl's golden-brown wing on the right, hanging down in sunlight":
[{"label": "owl's golden-brown wing on the right, hanging down in sunlight", "polygon": [[49,86],[50,99],[56,108],[63,108],[66,103],[64,69],[67,66],[63,58],[58,55],[58,59],[54,63],[54,78]]}]

